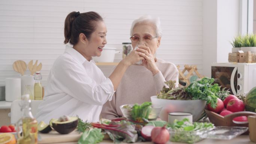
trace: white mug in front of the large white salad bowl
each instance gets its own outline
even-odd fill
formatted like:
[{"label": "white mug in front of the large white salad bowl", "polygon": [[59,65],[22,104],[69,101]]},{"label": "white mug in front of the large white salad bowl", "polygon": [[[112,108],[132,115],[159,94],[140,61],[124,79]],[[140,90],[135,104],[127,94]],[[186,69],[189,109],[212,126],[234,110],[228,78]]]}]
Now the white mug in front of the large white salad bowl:
[{"label": "white mug in front of the large white salad bowl", "polygon": [[168,114],[168,123],[173,124],[174,120],[177,119],[178,121],[181,121],[185,118],[189,119],[189,122],[193,122],[193,115],[191,113],[186,112],[174,112]]}]

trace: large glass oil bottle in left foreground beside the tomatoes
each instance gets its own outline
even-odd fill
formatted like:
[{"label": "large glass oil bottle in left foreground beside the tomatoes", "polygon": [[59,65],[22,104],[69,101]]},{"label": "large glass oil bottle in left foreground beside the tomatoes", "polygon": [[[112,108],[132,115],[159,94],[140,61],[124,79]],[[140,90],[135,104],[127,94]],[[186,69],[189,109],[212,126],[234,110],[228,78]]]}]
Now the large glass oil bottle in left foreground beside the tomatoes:
[{"label": "large glass oil bottle in left foreground beside the tomatoes", "polygon": [[[22,117],[17,122],[17,144],[37,144],[37,120],[31,113],[29,94],[21,96]],[[22,135],[19,133],[19,123],[22,123]]]}]

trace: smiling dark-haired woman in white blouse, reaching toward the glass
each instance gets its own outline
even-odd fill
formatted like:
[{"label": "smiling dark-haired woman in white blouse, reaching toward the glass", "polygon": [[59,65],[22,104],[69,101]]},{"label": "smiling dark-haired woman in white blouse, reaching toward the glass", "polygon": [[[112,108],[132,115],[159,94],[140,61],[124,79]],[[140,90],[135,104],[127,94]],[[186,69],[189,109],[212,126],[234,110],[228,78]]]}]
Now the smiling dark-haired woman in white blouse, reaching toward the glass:
[{"label": "smiling dark-haired woman in white blouse, reaching toward the glass", "polygon": [[112,99],[129,65],[141,59],[143,52],[133,50],[106,78],[92,56],[100,56],[107,28],[96,12],[71,12],[65,19],[65,52],[56,59],[39,105],[37,120],[49,122],[63,115],[79,116],[88,122],[99,121],[102,106]]}]

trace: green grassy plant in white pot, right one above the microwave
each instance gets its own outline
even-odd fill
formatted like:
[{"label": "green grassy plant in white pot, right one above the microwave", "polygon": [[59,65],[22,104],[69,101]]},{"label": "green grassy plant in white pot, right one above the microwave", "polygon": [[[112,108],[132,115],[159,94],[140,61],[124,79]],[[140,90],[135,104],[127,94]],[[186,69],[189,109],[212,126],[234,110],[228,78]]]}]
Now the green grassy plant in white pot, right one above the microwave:
[{"label": "green grassy plant in white pot, right one above the microwave", "polygon": [[256,52],[256,35],[246,34],[242,39],[241,50],[243,52]]}]

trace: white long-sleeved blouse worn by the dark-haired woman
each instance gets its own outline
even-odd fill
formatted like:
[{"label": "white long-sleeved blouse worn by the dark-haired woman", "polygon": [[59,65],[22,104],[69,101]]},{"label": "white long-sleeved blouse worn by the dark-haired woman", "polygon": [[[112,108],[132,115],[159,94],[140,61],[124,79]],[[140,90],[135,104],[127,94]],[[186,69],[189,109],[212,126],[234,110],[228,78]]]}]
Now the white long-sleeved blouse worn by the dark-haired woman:
[{"label": "white long-sleeved blouse worn by the dark-haired woman", "polygon": [[111,101],[113,94],[111,80],[95,62],[66,45],[52,66],[36,119],[49,123],[52,118],[68,115],[98,122],[103,104]]}]

